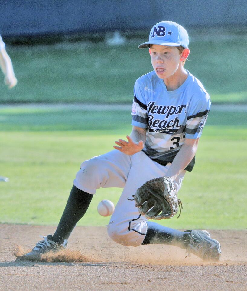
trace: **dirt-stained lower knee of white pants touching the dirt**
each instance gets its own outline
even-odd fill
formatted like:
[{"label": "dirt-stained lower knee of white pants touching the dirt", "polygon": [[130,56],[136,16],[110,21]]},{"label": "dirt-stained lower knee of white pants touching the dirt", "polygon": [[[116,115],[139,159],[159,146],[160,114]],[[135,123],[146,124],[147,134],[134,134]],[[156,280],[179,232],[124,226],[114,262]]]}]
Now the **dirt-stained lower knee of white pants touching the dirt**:
[{"label": "dirt-stained lower knee of white pants touching the dirt", "polygon": [[[138,229],[142,232],[138,232]],[[116,243],[123,246],[140,246],[147,232],[147,223],[145,221],[139,221],[132,224],[130,228],[130,223],[128,221],[123,223],[114,224],[111,222],[107,226],[107,232],[109,237]]]}]

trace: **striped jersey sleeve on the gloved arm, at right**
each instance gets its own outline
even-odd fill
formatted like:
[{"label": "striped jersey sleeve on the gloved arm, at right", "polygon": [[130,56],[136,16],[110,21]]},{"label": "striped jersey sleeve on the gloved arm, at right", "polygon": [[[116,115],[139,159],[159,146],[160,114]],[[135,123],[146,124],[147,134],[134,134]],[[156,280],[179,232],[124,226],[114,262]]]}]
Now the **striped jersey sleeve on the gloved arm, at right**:
[{"label": "striped jersey sleeve on the gloved arm, at right", "polygon": [[197,139],[202,135],[203,127],[206,123],[210,111],[210,98],[204,94],[200,99],[196,99],[188,111],[185,126],[185,138]]}]

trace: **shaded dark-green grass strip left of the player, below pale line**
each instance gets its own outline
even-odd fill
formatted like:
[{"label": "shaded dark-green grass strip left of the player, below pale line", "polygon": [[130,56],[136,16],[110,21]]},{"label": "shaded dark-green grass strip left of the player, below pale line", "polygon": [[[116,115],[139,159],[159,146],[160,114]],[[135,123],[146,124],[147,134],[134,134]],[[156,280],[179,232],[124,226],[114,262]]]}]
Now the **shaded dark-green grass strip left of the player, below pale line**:
[{"label": "shaded dark-green grass strip left of the player, below pale line", "polygon": [[130,111],[83,111],[1,113],[0,131],[112,130],[131,126]]}]

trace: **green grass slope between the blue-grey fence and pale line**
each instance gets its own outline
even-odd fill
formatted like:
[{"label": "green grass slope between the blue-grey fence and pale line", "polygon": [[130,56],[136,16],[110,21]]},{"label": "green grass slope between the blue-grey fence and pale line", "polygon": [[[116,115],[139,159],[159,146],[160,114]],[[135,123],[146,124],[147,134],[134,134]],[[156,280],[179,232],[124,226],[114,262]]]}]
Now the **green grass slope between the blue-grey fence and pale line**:
[{"label": "green grass slope between the blue-grey fence and pale line", "polygon": [[[200,79],[213,103],[247,102],[246,34],[227,32],[213,40],[193,37],[185,68]],[[127,103],[135,80],[152,70],[147,49],[104,42],[6,46],[18,85],[0,82],[0,102]]]}]

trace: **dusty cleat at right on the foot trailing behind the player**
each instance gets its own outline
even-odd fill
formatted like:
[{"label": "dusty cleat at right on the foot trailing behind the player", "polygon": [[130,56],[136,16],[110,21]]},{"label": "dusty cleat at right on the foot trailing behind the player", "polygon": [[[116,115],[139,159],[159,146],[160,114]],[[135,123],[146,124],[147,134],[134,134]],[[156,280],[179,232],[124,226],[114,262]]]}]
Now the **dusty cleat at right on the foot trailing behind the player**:
[{"label": "dusty cleat at right on the foot trailing behind the player", "polygon": [[187,252],[193,253],[203,261],[219,261],[221,250],[220,244],[216,239],[211,239],[210,233],[206,230],[186,230],[190,242]]}]

